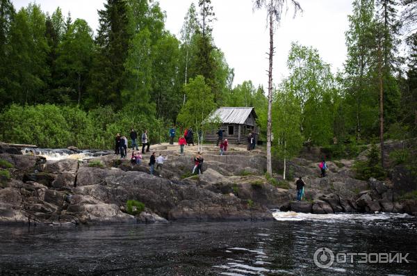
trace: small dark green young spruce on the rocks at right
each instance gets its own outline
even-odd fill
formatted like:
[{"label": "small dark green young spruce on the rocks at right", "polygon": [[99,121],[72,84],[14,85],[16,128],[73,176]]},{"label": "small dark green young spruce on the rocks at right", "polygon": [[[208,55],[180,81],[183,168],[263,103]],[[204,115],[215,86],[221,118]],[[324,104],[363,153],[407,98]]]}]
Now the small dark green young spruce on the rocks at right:
[{"label": "small dark green young spruce on the rocks at right", "polygon": [[385,179],[386,172],[381,167],[379,149],[375,144],[371,145],[367,158],[367,161],[356,161],[354,163],[353,168],[357,179],[368,180],[370,177],[379,180]]}]

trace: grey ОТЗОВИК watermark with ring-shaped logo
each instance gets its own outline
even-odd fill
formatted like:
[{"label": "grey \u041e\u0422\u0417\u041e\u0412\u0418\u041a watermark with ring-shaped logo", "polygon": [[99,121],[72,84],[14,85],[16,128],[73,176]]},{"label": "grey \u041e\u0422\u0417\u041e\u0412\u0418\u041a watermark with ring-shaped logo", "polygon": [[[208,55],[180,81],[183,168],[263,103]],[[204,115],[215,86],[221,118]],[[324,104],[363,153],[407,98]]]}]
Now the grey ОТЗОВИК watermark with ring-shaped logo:
[{"label": "grey \u041e\u0422\u0417\u041e\u0412\u0418\u041a watermark with ring-shaped logo", "polygon": [[319,268],[329,268],[333,263],[409,263],[409,253],[365,253],[336,252],[320,247],[314,252],[313,260]]}]

